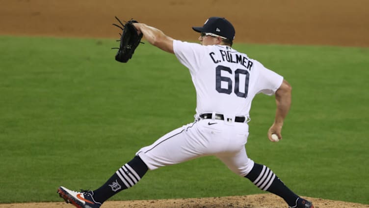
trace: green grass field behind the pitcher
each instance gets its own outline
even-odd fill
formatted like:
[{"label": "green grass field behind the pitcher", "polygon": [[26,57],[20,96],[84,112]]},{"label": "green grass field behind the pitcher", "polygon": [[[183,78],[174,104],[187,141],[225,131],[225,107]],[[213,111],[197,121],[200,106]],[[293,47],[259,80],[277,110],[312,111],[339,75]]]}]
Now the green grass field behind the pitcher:
[{"label": "green grass field behind the pitcher", "polygon": [[[110,39],[0,36],[0,203],[60,201],[99,187],[134,153],[193,120],[195,91],[175,56]],[[369,49],[236,44],[293,88],[284,139],[265,137],[274,97],[251,109],[247,151],[303,196],[369,204]],[[149,172],[112,200],[263,193],[214,157]]]}]

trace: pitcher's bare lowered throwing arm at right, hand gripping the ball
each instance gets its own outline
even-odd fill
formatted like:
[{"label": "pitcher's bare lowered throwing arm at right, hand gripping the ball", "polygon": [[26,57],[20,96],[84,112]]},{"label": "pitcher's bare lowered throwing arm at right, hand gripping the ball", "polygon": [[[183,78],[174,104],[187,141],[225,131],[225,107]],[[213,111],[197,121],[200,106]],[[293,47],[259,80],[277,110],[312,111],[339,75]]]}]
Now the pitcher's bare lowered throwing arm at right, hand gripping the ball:
[{"label": "pitcher's bare lowered throwing arm at right, hand gripping the ball", "polygon": [[283,121],[285,120],[288,112],[290,111],[291,106],[291,91],[292,88],[290,84],[286,80],[283,80],[282,85],[275,92],[275,101],[277,105],[277,110],[275,113],[274,123],[269,128],[268,131],[268,138],[272,142],[275,142],[275,140],[271,138],[272,134],[276,134],[280,140],[282,139],[281,131]]}]

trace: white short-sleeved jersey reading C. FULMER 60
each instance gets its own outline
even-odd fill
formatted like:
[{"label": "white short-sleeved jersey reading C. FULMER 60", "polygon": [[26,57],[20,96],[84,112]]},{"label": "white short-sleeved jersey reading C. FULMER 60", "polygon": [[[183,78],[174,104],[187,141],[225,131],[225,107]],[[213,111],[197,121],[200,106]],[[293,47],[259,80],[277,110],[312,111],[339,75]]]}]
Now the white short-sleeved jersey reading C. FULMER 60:
[{"label": "white short-sleeved jersey reading C. FULMER 60", "polygon": [[174,53],[190,71],[197,93],[196,113],[249,116],[257,93],[268,95],[283,77],[229,46],[202,46],[175,40]]}]

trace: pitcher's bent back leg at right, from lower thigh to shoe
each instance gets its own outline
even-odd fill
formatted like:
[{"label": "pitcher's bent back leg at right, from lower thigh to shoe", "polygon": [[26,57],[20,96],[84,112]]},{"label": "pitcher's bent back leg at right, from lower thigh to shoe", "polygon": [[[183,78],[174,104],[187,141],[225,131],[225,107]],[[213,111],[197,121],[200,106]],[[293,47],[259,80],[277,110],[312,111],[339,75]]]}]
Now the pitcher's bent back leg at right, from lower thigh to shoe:
[{"label": "pitcher's bent back leg at right, from lower thigh to shoe", "polygon": [[248,178],[258,188],[282,197],[291,208],[314,208],[311,202],[293,193],[268,167],[257,164],[247,157],[243,148],[234,154],[217,157],[237,175]]}]

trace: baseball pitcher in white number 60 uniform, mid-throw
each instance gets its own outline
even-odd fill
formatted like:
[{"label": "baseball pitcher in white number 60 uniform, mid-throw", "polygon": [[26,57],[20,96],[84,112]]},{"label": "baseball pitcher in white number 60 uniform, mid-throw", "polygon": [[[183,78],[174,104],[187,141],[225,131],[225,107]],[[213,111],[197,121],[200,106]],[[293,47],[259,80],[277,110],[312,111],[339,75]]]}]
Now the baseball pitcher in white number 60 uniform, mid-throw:
[{"label": "baseball pitcher in white number 60 uniform, mid-throw", "polygon": [[[192,27],[200,33],[200,44],[175,40],[161,30],[136,21],[130,24],[136,35],[143,35],[150,44],[174,54],[188,68],[196,89],[194,122],[139,149],[133,159],[100,188],[76,192],[60,186],[59,195],[78,208],[99,208],[114,194],[135,185],[148,170],[214,155],[235,174],[282,197],[290,208],[314,208],[310,201],[293,193],[267,166],[247,156],[247,122],[253,98],[258,93],[275,94],[275,120],[267,132],[268,139],[275,142],[282,139],[283,121],[290,110],[291,87],[281,75],[232,48],[235,38],[232,24],[225,18],[211,17],[202,27]],[[137,41],[140,38],[135,40],[136,45]],[[118,59],[124,57],[122,51]],[[132,53],[128,59],[131,57]]]}]

